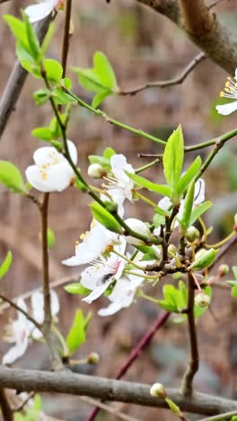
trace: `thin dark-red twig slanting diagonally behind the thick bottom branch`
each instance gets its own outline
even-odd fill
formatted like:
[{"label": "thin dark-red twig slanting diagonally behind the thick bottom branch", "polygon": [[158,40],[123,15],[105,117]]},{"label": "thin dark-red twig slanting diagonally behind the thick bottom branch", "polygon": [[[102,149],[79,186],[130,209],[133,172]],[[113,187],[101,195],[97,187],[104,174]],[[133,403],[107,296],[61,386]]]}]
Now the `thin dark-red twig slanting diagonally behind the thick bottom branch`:
[{"label": "thin dark-red twig slanting diagonally behind the thick bottom branch", "polygon": [[[128,369],[131,367],[131,365],[136,361],[136,359],[145,349],[145,346],[150,344],[154,334],[157,332],[157,330],[159,330],[160,327],[164,325],[164,323],[170,317],[170,315],[171,313],[166,311],[165,313],[162,314],[162,316],[159,316],[159,318],[155,320],[154,326],[151,327],[147,332],[145,332],[145,336],[142,337],[142,339],[138,342],[136,347],[129,354],[127,358],[127,362],[120,368],[115,379],[119,380],[127,373]],[[100,411],[100,408],[93,408],[91,414],[87,418],[87,421],[92,421],[97,416],[99,411]]]}]

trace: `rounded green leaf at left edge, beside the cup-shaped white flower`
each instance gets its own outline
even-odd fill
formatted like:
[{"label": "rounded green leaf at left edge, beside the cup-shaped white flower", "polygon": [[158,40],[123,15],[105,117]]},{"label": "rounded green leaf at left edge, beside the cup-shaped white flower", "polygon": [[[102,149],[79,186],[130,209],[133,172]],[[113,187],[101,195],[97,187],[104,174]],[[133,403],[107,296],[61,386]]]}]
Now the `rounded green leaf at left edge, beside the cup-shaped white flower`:
[{"label": "rounded green leaf at left edge, beside the cup-shaped white flower", "polygon": [[9,161],[0,161],[0,184],[13,193],[25,193],[19,169]]}]

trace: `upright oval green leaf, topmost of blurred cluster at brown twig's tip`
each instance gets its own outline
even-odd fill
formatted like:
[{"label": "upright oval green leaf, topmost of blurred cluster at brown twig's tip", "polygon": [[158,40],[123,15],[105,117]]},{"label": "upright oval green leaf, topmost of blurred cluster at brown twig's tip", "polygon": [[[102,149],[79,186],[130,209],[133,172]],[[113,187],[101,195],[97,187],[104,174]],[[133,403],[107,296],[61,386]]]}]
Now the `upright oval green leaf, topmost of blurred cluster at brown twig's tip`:
[{"label": "upright oval green leaf, topmost of blurred cluster at brown twig's tip", "polygon": [[93,56],[93,65],[101,85],[109,88],[112,92],[118,90],[115,73],[105,54],[101,51],[97,51]]}]

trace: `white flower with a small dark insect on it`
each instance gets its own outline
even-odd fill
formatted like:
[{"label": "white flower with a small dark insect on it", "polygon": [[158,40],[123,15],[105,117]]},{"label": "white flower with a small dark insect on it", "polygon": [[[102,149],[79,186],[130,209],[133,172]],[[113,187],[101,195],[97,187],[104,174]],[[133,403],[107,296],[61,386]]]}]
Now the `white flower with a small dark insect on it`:
[{"label": "white flower with a small dark insect on it", "polygon": [[[120,255],[124,255],[126,240],[120,238],[120,244],[114,246],[114,250]],[[108,259],[101,257],[101,260],[94,262],[92,266],[87,267],[81,275],[83,287],[92,290],[92,292],[83,301],[92,303],[93,300],[101,297],[104,291],[110,286],[111,282],[117,281],[122,276],[125,260],[118,255],[112,254]]]}]

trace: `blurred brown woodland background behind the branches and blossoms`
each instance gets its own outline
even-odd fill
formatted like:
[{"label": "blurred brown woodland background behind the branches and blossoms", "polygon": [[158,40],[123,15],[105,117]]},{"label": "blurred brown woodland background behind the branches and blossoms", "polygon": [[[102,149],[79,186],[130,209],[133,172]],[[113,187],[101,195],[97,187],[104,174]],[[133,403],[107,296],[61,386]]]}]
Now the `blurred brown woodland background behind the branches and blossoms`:
[{"label": "blurred brown woodland background behind the branches and blossoms", "polygon": [[[206,0],[207,3],[207,0]],[[210,4],[211,2],[209,2]],[[29,2],[13,0],[0,4],[0,15],[13,13],[20,16],[20,8]],[[236,1],[223,2],[215,8],[220,18],[232,30],[237,31]],[[74,92],[85,101],[92,97],[77,84],[76,76],[70,67],[91,67],[92,56],[96,50],[103,51],[115,69],[118,85],[126,90],[148,81],[169,79],[178,76],[198,49],[171,22],[154,13],[136,0],[87,0],[73,4],[74,35],[71,39],[68,56],[67,76],[73,78]],[[58,13],[56,32],[48,49],[48,57],[60,60],[64,14]],[[0,92],[13,68],[15,60],[14,41],[6,24],[0,24]],[[168,139],[171,131],[181,123],[187,145],[215,138],[225,131],[236,127],[236,113],[222,117],[215,112],[215,104],[220,103],[219,91],[223,89],[224,71],[206,59],[188,76],[182,85],[169,88],[153,88],[133,96],[114,96],[102,104],[102,109],[111,117],[137,129],[147,130],[161,139]],[[23,87],[20,101],[16,105],[9,124],[0,142],[0,157],[12,161],[24,173],[32,163],[32,153],[44,146],[31,136],[31,130],[47,125],[52,118],[48,106],[36,106],[32,93],[41,83],[28,77]],[[112,126],[87,110],[75,107],[68,131],[78,148],[80,167],[86,171],[88,155],[101,154],[110,146],[117,153],[124,153],[133,166],[149,162],[138,158],[138,153],[161,153],[159,145],[137,137],[126,130]],[[206,157],[206,150],[201,156]],[[227,235],[233,227],[233,215],[237,203],[237,166],[236,139],[231,140],[220,151],[215,163],[208,169],[206,198],[214,202],[213,210],[206,215],[208,226],[215,228],[212,243]],[[196,153],[187,156],[189,160]],[[153,167],[145,173],[153,180],[159,180],[161,170]],[[36,192],[36,194],[38,194]],[[53,193],[50,197],[49,227],[56,234],[56,246],[50,251],[51,280],[64,276],[76,276],[82,268],[69,268],[61,260],[74,255],[75,240],[89,228],[91,214],[88,208],[90,199],[73,188],[64,193]],[[13,251],[13,265],[7,278],[1,284],[4,294],[16,297],[24,291],[40,286],[40,218],[32,202],[0,187],[0,262],[7,250]],[[143,203],[127,206],[127,216],[143,220],[151,218],[151,210]],[[219,237],[218,237],[219,236]],[[233,266],[236,262],[236,246],[225,256],[224,262]],[[217,270],[217,268],[216,268]],[[215,273],[215,272],[214,272]],[[233,278],[230,273],[229,279]],[[223,282],[223,281],[222,281]],[[92,306],[82,302],[81,297],[66,293],[63,285],[57,288],[61,311],[59,326],[66,334],[75,314],[75,309],[93,312],[88,339],[77,353],[83,358],[91,352],[101,356],[97,366],[80,365],[77,372],[114,377],[119,367],[137,341],[144,335],[147,327],[161,313],[155,304],[137,299],[130,309],[120,311],[116,317],[99,318],[97,310],[105,299]],[[161,297],[160,287],[157,297]],[[104,301],[103,301],[104,300]],[[195,385],[198,390],[235,396],[237,347],[236,344],[236,306],[230,298],[230,291],[215,287],[215,298],[211,311],[198,322],[201,364]],[[13,312],[1,315],[0,330]],[[8,345],[0,345],[0,353]],[[166,387],[179,387],[182,373],[188,359],[187,327],[175,325],[171,320],[160,330],[151,345],[127,373],[127,381],[145,383],[163,382]],[[25,368],[48,367],[48,356],[42,345],[31,345],[27,354],[15,364]],[[90,406],[78,398],[43,396],[44,409],[48,415],[68,421],[83,421]],[[137,417],[140,420],[159,417],[164,421],[172,420],[169,412],[160,409],[139,408],[113,403],[114,408]],[[60,410],[58,411],[58,408]],[[197,417],[190,417],[197,419]],[[101,412],[101,420],[118,419]]]}]

